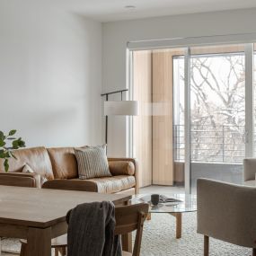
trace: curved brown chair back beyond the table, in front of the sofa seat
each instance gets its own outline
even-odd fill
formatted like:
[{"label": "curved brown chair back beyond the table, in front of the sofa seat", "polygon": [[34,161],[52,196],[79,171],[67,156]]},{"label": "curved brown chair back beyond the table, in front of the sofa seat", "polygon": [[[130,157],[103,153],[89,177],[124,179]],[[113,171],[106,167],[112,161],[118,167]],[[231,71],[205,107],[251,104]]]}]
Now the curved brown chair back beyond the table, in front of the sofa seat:
[{"label": "curved brown chair back beyond the table, in front of the sofa seat", "polygon": [[62,180],[61,179],[61,180],[46,181],[43,183],[42,189],[98,192],[97,184],[95,184],[92,181],[85,181],[85,180]]}]

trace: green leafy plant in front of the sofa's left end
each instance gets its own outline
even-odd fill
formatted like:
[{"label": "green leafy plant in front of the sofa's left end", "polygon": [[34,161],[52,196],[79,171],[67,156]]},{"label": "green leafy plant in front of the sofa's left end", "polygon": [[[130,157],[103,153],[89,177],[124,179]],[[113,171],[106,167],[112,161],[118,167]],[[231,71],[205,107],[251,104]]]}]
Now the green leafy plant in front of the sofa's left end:
[{"label": "green leafy plant in front of the sofa's left end", "polygon": [[9,170],[9,159],[17,159],[13,151],[20,147],[25,147],[25,142],[22,137],[13,137],[16,133],[15,129],[10,130],[8,135],[4,135],[3,131],[0,131],[0,158],[4,159],[4,171]]}]

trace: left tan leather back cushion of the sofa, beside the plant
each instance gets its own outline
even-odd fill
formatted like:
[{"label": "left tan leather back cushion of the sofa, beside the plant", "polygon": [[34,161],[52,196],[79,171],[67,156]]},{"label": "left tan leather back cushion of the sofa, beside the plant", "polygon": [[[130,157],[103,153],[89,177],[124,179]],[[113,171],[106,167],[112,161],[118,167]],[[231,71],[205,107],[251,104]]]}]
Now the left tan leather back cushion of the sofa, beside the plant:
[{"label": "left tan leather back cushion of the sofa, beside the plant", "polygon": [[[49,154],[45,147],[22,148],[14,151],[17,160],[9,159],[9,172],[22,172],[25,163],[28,163],[34,172],[48,180],[53,180],[53,172]],[[4,161],[0,159],[0,172],[4,172]]]}]

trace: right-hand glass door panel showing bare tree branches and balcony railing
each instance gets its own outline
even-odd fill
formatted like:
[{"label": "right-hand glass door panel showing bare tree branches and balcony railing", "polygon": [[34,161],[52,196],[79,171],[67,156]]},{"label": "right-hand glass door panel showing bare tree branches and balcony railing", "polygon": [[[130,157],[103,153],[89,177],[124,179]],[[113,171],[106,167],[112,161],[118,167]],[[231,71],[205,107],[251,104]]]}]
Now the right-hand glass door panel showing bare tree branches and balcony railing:
[{"label": "right-hand glass door panel showing bare tree branches and balcony railing", "polygon": [[190,173],[242,183],[245,157],[243,45],[190,49]]}]

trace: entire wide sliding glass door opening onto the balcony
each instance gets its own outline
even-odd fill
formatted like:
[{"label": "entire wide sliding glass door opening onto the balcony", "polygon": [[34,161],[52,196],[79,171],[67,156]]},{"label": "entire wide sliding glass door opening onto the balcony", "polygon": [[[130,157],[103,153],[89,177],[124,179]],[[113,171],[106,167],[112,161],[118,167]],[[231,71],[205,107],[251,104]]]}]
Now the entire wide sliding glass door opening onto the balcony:
[{"label": "entire wide sliding glass door opening onto the balcony", "polygon": [[[134,52],[133,91],[146,97],[147,117],[135,122],[142,128],[134,145],[137,155],[151,146],[141,156],[150,166],[142,183],[185,184],[187,193],[202,177],[242,184],[243,159],[256,155],[253,44],[140,52]],[[137,91],[142,84],[149,87]]]}]

